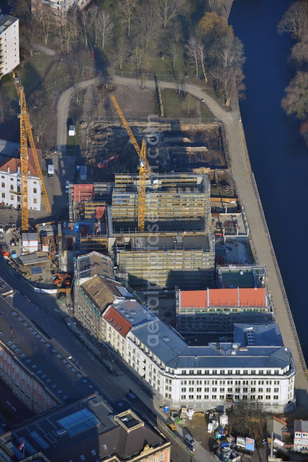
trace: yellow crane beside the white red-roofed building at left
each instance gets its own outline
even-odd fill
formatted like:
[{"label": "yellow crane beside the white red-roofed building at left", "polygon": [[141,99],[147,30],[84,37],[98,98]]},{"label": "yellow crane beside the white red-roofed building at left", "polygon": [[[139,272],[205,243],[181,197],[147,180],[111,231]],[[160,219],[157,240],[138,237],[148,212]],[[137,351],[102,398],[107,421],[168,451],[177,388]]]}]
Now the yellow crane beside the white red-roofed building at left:
[{"label": "yellow crane beside the white red-roofed building at left", "polygon": [[17,90],[20,114],[18,118],[20,120],[20,161],[21,161],[21,229],[22,231],[29,230],[28,221],[28,143],[29,139],[31,151],[36,166],[37,176],[41,186],[41,192],[44,199],[45,209],[47,213],[51,213],[50,205],[48,202],[47,192],[42,176],[40,163],[37,158],[36,147],[33,140],[33,134],[30,125],[29,114],[24,98],[24,87],[21,85],[20,78],[17,72],[13,72],[14,84]]}]

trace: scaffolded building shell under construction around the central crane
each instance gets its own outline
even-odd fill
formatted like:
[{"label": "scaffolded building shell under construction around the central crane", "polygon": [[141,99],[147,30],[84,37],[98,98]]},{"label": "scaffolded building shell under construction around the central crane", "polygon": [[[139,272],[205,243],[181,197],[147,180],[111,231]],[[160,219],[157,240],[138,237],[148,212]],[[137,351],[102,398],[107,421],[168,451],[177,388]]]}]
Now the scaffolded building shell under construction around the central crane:
[{"label": "scaffolded building shell under construction around the central crane", "polygon": [[69,221],[59,224],[59,261],[91,250],[109,255],[118,274],[135,288],[206,288],[213,284],[215,250],[209,229],[206,174],[158,174],[145,183],[145,229],[138,231],[139,177],[115,183],[71,184]]}]

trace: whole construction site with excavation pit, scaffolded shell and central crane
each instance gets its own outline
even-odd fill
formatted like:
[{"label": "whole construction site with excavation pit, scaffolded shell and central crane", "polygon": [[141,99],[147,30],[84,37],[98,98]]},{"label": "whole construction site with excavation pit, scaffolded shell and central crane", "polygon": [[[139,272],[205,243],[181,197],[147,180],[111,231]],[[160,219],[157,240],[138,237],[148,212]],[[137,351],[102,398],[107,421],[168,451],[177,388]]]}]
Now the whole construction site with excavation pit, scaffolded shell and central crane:
[{"label": "whole construction site with excavation pit, scaffolded shell and central crane", "polygon": [[[76,258],[96,251],[135,290],[205,289],[215,285],[215,263],[253,263],[221,123],[128,124],[111,101],[119,122],[80,124],[88,179],[67,185],[66,219],[29,237],[30,255],[20,255],[31,264],[27,278],[66,292]],[[48,208],[43,183],[42,191]]]}]

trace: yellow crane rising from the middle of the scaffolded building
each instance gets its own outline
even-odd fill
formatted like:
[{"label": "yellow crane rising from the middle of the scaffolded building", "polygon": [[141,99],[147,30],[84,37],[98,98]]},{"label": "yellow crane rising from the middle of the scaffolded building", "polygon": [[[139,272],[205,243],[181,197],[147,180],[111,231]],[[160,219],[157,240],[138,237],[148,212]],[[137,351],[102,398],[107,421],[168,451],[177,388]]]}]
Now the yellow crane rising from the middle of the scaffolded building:
[{"label": "yellow crane rising from the middle of the scaffolded building", "polygon": [[145,231],[145,175],[147,173],[151,179],[154,177],[154,173],[146,158],[146,142],[145,140],[142,140],[140,149],[137,140],[134,137],[133,132],[128,125],[127,120],[124,117],[114,95],[111,96],[111,101],[114,103],[115,109],[117,110],[120,119],[128,133],[128,136],[130,137],[132,144],[139,155],[138,231]]}]

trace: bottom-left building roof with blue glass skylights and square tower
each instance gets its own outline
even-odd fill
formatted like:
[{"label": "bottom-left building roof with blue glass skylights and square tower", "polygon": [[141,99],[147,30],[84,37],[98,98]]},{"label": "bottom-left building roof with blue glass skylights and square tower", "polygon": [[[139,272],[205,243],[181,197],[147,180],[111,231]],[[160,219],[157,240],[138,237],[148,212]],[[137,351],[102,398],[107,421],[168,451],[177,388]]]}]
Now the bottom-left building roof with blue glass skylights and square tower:
[{"label": "bottom-left building roof with blue glass skylights and square tower", "polygon": [[22,441],[25,457],[41,451],[51,462],[95,462],[112,456],[125,460],[138,455],[145,441],[157,449],[168,443],[132,410],[118,414],[97,394],[41,414],[3,434],[1,451],[21,460],[23,451],[18,446]]}]

